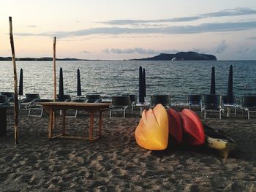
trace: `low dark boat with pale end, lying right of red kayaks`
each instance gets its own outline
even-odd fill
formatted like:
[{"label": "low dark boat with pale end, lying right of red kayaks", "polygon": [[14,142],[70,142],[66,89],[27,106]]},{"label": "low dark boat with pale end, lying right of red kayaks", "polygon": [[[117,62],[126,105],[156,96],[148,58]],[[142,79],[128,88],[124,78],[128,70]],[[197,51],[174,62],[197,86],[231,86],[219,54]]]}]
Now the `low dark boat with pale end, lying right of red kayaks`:
[{"label": "low dark boat with pale end, lying right of red kayaks", "polygon": [[206,147],[217,150],[223,158],[236,148],[236,142],[226,134],[217,131],[206,124],[203,125],[206,134]]}]

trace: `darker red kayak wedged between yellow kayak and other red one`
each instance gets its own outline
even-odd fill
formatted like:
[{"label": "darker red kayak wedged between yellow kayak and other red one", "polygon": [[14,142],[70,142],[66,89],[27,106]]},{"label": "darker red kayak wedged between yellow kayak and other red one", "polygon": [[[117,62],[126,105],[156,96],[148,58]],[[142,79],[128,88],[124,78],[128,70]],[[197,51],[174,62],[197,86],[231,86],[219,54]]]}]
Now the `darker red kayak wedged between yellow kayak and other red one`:
[{"label": "darker red kayak wedged between yellow kayak and other red one", "polygon": [[173,109],[167,110],[167,114],[169,120],[169,134],[174,137],[178,143],[181,143],[183,137],[181,118],[178,112]]}]

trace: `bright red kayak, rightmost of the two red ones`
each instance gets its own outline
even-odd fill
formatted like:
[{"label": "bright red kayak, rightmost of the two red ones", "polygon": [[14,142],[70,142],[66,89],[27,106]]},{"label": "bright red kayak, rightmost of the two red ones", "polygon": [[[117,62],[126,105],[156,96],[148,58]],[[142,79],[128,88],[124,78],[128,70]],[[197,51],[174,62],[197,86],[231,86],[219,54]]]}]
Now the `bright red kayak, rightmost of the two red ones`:
[{"label": "bright red kayak, rightmost of the two red ones", "polygon": [[192,110],[184,109],[179,112],[184,131],[184,142],[188,145],[203,145],[205,132],[200,118]]}]

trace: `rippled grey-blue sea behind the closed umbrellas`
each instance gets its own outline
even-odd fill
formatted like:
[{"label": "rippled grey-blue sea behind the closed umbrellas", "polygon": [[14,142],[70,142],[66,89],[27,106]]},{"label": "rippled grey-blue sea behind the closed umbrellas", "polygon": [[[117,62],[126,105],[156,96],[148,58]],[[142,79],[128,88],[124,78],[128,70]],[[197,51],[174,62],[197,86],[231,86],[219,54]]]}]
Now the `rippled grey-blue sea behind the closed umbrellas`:
[{"label": "rippled grey-blue sea behind the closed umbrellas", "polygon": [[[227,94],[233,65],[233,94],[238,101],[256,93],[256,61],[56,61],[57,93],[59,69],[63,69],[64,94],[76,96],[77,69],[82,94],[99,93],[103,99],[124,93],[138,95],[139,67],[146,70],[146,100],[153,94],[170,94],[172,102],[187,103],[187,96],[210,93],[211,68],[215,67],[216,93]],[[23,93],[39,93],[53,99],[53,61],[16,61],[18,84],[23,69]],[[0,61],[0,91],[14,92],[12,61]]]}]

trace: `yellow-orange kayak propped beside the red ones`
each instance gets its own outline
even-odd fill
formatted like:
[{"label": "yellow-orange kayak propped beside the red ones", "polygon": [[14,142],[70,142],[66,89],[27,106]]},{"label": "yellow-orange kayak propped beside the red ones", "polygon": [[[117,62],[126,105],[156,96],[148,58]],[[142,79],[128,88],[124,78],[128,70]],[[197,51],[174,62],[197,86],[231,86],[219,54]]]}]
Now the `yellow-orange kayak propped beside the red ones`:
[{"label": "yellow-orange kayak propped beside the red ones", "polygon": [[135,140],[147,150],[165,150],[168,145],[168,116],[165,107],[157,104],[144,110],[140,123],[135,130]]}]

